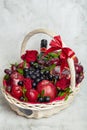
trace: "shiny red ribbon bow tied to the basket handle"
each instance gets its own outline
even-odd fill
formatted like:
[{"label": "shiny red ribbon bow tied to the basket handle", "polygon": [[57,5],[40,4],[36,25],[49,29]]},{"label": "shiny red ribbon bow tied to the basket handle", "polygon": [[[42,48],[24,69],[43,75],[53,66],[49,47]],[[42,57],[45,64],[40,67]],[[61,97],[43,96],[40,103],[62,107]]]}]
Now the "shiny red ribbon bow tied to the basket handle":
[{"label": "shiny red ribbon bow tied to the basket handle", "polygon": [[68,47],[63,47],[63,43],[60,36],[55,36],[54,40],[50,42],[50,48],[46,51],[45,54],[50,52],[61,50],[60,59],[61,59],[61,72],[65,67],[68,67],[67,59],[71,58],[75,53]]}]

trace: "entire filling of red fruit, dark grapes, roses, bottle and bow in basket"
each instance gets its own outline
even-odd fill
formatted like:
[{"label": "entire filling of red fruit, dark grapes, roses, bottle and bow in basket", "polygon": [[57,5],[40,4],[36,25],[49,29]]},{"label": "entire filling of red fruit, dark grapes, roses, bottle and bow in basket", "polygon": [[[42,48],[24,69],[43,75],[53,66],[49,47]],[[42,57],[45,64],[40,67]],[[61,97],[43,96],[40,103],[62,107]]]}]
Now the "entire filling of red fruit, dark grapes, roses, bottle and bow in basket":
[{"label": "entire filling of red fruit, dark grapes, roses, bottle and bow in basket", "polygon": [[27,50],[21,63],[5,69],[3,86],[7,93],[21,102],[49,103],[67,100],[72,93],[70,69],[67,59],[72,58],[76,72],[76,87],[84,78],[83,66],[73,50],[62,46],[60,36],[54,37],[47,49],[47,41],[41,40],[40,53]]}]

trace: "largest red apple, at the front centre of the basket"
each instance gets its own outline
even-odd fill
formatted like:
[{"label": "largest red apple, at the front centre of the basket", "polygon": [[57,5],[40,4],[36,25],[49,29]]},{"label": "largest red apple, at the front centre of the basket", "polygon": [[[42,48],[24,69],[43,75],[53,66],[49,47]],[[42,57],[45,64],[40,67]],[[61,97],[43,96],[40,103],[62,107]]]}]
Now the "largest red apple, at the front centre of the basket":
[{"label": "largest red apple, at the front centre of the basket", "polygon": [[56,97],[57,90],[56,87],[48,80],[42,80],[37,85],[37,91],[41,94],[44,91],[44,96],[49,96],[50,100]]}]

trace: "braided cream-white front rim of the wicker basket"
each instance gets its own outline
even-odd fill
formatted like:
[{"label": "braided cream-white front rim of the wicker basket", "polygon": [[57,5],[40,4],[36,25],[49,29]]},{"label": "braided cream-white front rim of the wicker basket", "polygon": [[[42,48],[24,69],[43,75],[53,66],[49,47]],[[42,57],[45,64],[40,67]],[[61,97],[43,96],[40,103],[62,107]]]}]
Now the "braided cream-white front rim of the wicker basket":
[{"label": "braided cream-white front rim of the wicker basket", "polygon": [[61,106],[64,104],[67,104],[67,102],[69,102],[72,97],[74,98],[74,96],[78,93],[78,91],[80,90],[80,84],[78,84],[74,91],[68,96],[67,100],[53,100],[52,102],[49,103],[30,103],[30,102],[22,102],[19,101],[18,99],[14,98],[12,95],[10,95],[8,92],[6,92],[5,88],[2,87],[1,91],[2,94],[4,95],[5,99],[12,105],[16,105],[17,107],[20,108],[24,108],[24,109],[31,109],[31,110],[44,110],[44,109],[49,109],[49,108],[53,108],[55,106]]}]

